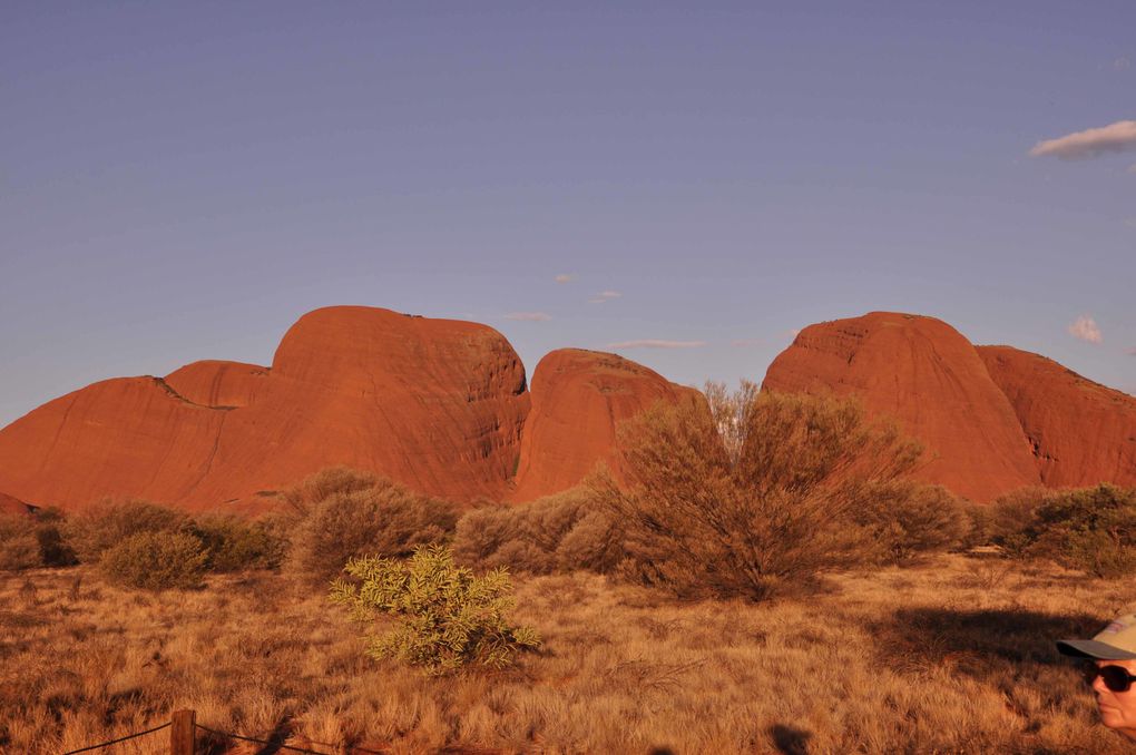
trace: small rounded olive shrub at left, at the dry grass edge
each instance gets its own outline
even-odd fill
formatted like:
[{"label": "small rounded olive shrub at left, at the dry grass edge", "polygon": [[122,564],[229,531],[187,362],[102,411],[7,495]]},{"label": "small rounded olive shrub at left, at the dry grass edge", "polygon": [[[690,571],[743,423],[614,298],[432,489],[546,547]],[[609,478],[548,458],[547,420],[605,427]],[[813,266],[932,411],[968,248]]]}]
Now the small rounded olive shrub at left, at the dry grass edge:
[{"label": "small rounded olive shrub at left, at the dry grass edge", "polygon": [[189,532],[142,531],[105,551],[99,569],[124,587],[193,588],[201,584],[208,557],[201,540]]}]

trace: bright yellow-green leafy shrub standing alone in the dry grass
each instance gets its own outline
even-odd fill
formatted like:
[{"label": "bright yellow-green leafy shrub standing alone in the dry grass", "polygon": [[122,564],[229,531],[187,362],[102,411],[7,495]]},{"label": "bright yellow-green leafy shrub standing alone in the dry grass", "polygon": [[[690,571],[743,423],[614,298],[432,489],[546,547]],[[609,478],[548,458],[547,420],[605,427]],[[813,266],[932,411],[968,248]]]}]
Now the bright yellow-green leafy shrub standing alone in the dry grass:
[{"label": "bright yellow-green leafy shrub standing alone in the dry grass", "polygon": [[336,580],[331,599],[351,618],[371,626],[393,616],[394,629],[368,635],[367,653],[440,674],[467,665],[503,668],[525,648],[540,645],[528,627],[510,627],[512,584],[503,569],[477,577],[453,563],[449,548],[419,547],[407,561],[352,559],[346,572],[358,580]]}]

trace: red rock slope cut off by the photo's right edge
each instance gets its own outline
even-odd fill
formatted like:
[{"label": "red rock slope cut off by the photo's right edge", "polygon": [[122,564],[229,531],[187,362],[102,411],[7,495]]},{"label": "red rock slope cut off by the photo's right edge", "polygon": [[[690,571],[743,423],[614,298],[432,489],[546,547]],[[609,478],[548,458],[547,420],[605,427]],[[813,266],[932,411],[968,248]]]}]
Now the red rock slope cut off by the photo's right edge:
[{"label": "red rock slope cut off by the photo's right edge", "polygon": [[1010,400],[1043,484],[1136,485],[1136,399],[1038,354],[1010,346],[978,354]]}]

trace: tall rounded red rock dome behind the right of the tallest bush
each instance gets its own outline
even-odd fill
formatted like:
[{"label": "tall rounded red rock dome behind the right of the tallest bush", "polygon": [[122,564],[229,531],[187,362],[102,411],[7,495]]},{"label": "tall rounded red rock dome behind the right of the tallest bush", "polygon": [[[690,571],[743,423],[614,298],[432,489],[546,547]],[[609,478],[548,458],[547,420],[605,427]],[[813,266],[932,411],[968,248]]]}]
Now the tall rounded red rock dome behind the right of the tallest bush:
[{"label": "tall rounded red rock dome behind the right of the tallest bush", "polygon": [[1010,401],[970,342],[941,320],[871,312],[809,326],[762,388],[859,396],[924,443],[917,478],[974,501],[1041,481]]}]

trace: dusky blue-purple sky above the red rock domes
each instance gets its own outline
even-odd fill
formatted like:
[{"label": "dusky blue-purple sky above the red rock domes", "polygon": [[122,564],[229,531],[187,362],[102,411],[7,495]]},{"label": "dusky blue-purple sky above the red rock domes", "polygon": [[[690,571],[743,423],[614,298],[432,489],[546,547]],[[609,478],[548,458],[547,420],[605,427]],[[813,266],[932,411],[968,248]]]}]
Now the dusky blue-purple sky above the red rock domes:
[{"label": "dusky blue-purple sky above the red rock domes", "polygon": [[1136,3],[612,5],[2,3],[0,426],[328,304],[694,385],[901,310],[1136,392]]}]

